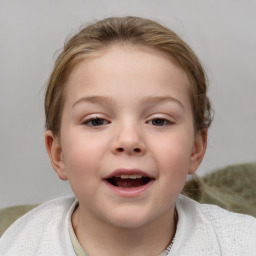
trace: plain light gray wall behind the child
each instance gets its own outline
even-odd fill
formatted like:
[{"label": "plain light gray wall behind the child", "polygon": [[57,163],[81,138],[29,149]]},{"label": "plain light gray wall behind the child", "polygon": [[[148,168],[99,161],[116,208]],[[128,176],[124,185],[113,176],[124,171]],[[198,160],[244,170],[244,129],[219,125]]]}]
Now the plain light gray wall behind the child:
[{"label": "plain light gray wall behind the child", "polygon": [[67,36],[113,15],[160,21],[205,66],[215,120],[199,174],[256,161],[256,1],[1,0],[0,207],[71,193],[44,147],[44,85]]}]

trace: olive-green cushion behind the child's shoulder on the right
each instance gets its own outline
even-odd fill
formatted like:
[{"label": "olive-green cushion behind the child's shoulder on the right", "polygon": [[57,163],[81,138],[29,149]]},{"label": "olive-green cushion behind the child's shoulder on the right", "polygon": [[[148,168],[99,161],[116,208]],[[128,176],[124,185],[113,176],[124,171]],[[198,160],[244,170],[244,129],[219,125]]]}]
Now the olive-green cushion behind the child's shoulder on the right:
[{"label": "olive-green cushion behind the child's shoulder on the right", "polygon": [[186,183],[183,194],[256,217],[256,163],[230,165]]}]

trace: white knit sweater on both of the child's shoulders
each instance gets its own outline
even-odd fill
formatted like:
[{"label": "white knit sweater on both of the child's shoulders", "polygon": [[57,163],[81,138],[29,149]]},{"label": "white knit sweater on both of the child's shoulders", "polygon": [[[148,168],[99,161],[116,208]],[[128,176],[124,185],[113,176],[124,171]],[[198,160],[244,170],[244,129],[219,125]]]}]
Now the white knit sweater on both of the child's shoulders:
[{"label": "white knit sweater on both of the child's shoulders", "polygon": [[[75,256],[68,226],[75,198],[40,205],[0,239],[1,256]],[[256,219],[179,196],[179,221],[168,256],[256,256]]]}]

